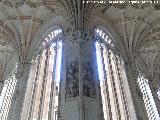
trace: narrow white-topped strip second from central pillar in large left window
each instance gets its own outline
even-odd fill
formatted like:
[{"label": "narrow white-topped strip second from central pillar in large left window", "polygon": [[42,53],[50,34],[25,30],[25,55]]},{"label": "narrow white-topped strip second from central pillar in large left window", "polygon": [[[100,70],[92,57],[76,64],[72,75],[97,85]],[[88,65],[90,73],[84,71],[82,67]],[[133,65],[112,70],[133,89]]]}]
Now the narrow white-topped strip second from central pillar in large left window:
[{"label": "narrow white-topped strip second from central pillar in large left window", "polygon": [[52,48],[51,49],[52,54],[53,54],[53,65],[52,65],[52,81],[51,81],[51,93],[50,93],[50,102],[49,102],[49,114],[48,114],[48,120],[54,120],[54,108],[55,108],[55,70],[56,70],[56,58],[57,58],[57,48]]}]

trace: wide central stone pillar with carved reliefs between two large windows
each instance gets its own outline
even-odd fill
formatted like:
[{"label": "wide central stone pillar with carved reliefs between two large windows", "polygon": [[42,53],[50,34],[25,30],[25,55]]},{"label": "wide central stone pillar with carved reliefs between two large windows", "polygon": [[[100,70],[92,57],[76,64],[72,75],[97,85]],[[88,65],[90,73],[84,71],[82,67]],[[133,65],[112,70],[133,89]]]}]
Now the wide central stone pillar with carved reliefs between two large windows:
[{"label": "wide central stone pillar with carved reliefs between two large windows", "polygon": [[76,31],[63,43],[59,120],[103,120],[92,34]]}]

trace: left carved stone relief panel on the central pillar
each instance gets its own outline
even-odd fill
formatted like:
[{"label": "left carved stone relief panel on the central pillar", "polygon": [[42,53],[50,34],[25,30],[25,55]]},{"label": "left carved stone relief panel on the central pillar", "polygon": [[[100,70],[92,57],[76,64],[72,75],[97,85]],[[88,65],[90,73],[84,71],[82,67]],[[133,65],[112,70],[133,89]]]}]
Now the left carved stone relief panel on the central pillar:
[{"label": "left carved stone relief panel on the central pillar", "polygon": [[65,99],[79,96],[79,63],[78,59],[67,65]]}]

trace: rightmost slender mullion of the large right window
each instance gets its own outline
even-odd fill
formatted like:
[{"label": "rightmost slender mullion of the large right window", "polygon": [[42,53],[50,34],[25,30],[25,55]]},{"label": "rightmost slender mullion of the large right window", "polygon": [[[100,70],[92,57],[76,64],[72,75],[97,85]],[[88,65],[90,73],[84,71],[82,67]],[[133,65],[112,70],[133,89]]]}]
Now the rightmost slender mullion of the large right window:
[{"label": "rightmost slender mullion of the large right window", "polygon": [[118,73],[119,86],[120,86],[121,97],[122,97],[122,102],[123,102],[123,110],[124,110],[125,118],[129,120],[128,105],[127,105],[126,95],[125,95],[124,88],[123,88],[122,76],[120,72],[121,64],[120,64],[120,59],[117,56],[116,56],[115,62],[116,62],[116,69]]}]

